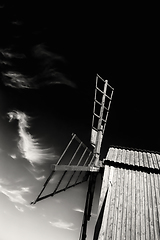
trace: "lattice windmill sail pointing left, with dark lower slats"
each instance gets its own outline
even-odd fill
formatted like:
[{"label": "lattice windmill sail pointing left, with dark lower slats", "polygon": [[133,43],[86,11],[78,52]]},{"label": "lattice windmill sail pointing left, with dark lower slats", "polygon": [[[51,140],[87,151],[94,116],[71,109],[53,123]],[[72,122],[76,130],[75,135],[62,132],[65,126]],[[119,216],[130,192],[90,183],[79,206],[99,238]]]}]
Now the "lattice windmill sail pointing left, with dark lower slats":
[{"label": "lattice windmill sail pointing left, with dark lower slats", "polygon": [[[72,134],[71,140],[57,163],[51,166],[52,171],[38,197],[31,204],[35,204],[48,197],[53,197],[57,193],[87,181],[89,176],[88,172],[96,172],[99,170],[99,168],[93,166],[94,159],[94,155],[88,147],[85,146],[76,134]],[[53,182],[52,191],[42,195],[51,182]]]}]

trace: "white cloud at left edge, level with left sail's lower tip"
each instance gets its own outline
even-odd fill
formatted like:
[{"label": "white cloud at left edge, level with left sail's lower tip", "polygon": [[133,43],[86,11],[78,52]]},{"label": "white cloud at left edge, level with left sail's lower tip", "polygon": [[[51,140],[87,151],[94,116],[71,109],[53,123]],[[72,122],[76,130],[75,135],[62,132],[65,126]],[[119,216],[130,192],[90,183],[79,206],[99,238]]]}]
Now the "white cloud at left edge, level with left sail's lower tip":
[{"label": "white cloud at left edge, level with left sail's lower tip", "polygon": [[11,202],[26,205],[27,201],[23,195],[27,192],[25,188],[19,190],[8,190],[6,187],[0,185],[0,192],[6,195]]}]

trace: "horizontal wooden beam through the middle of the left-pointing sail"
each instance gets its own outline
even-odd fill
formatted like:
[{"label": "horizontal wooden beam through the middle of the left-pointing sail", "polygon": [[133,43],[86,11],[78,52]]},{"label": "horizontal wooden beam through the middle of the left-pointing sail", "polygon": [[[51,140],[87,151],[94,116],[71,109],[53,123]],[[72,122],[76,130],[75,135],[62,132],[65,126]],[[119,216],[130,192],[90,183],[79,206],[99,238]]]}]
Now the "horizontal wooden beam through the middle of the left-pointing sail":
[{"label": "horizontal wooden beam through the middle of the left-pointing sail", "polygon": [[99,167],[92,166],[77,166],[77,165],[56,165],[52,164],[52,170],[54,171],[80,171],[80,172],[98,172]]}]

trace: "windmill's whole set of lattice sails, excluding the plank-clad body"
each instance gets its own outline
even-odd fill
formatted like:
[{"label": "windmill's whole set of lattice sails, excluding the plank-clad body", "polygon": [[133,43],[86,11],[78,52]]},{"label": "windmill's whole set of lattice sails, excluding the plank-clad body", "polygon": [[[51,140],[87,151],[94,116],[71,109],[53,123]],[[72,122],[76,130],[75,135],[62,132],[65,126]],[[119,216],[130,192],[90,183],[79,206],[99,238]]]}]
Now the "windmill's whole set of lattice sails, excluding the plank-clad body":
[{"label": "windmill's whole set of lattice sails, excluding the plank-clad body", "polygon": [[[87,223],[91,217],[96,178],[99,172],[103,172],[101,170],[104,168],[102,161],[100,161],[100,150],[113,92],[114,89],[109,85],[108,80],[104,80],[97,74],[91,128],[91,145],[93,150],[89,150],[76,134],[72,134],[71,140],[57,163],[52,164],[52,171],[36,200],[31,203],[36,204],[48,197],[53,197],[55,194],[88,181],[80,240],[85,240],[87,237]],[[44,194],[53,176],[56,176],[54,190],[52,189],[51,193]]]}]

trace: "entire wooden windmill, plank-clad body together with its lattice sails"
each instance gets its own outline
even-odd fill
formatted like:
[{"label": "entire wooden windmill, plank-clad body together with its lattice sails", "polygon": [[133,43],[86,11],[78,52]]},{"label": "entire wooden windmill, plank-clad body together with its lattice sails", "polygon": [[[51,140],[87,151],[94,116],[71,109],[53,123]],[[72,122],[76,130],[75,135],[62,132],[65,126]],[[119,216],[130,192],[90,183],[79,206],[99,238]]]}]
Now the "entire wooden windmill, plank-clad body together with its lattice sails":
[{"label": "entire wooden windmill, plank-clad body together with its lattice sails", "polygon": [[[108,92],[110,94],[108,94]],[[72,134],[36,200],[53,197],[88,181],[79,240],[87,239],[87,223],[98,173],[102,174],[98,216],[93,240],[160,239],[160,154],[112,146],[101,161],[100,150],[114,89],[98,74],[93,106],[91,145],[93,151]],[[55,179],[54,189],[44,194]]]}]

